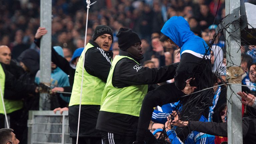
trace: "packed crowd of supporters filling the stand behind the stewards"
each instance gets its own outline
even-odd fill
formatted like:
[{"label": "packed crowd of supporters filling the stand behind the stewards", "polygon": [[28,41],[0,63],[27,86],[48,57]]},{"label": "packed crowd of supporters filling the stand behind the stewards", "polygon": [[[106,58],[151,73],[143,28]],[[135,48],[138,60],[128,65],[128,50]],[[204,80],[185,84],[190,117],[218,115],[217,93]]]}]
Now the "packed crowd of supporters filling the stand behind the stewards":
[{"label": "packed crowd of supporters filling the stand behind the stewards", "polygon": [[[244,2],[256,4],[254,0],[245,0]],[[51,35],[53,47],[50,87],[51,95],[55,95],[55,98],[51,100],[50,110],[68,107],[70,95],[59,94],[56,91],[72,91],[75,67],[85,42],[86,6],[86,0],[52,0]],[[218,78],[215,85],[225,82],[226,47],[224,37],[219,34],[212,41],[217,24],[225,17],[224,0],[99,0],[89,10],[86,42],[88,43],[89,40],[93,39],[93,32],[98,25],[109,26],[113,30],[110,50],[113,52],[114,59],[119,54],[117,37],[119,29],[122,27],[130,28],[141,39],[144,57],[140,61],[141,65],[149,68],[171,65],[180,61],[180,51],[175,50],[174,44],[160,41],[160,30],[164,23],[173,16],[184,17],[195,35],[202,37],[207,44],[212,44],[212,69]],[[26,84],[37,85],[40,81],[40,39],[47,33],[47,30],[39,27],[40,1],[0,1],[0,62],[16,79]],[[242,84],[254,87],[256,86],[255,51],[256,46],[241,46],[241,68],[244,70]],[[159,83],[159,85],[171,82],[174,80],[171,79]],[[254,87],[243,87],[243,91],[255,93]],[[214,92],[216,103],[214,103],[214,107],[209,108],[209,117],[200,119],[202,122],[226,122],[226,87],[216,87]],[[11,128],[14,129],[20,143],[26,143],[28,111],[38,110],[38,91],[36,90],[36,93],[19,93],[5,90],[5,95],[8,96],[4,98],[15,101],[16,106],[7,112],[10,117]],[[149,129],[156,137],[159,137],[169,112],[177,110],[174,108],[176,105],[158,106],[154,110]],[[0,128],[4,128],[4,113],[0,112]],[[162,116],[164,119],[161,119]],[[249,109],[244,117],[246,116],[254,121],[256,113]],[[160,119],[158,119],[159,117]],[[165,126],[168,127],[168,125]],[[195,130],[198,129],[195,128]],[[195,136],[200,134],[197,131],[192,133]],[[189,138],[192,141],[194,139],[195,142],[199,140],[207,143],[206,139],[203,139],[205,137],[196,139],[191,136],[192,133],[185,140],[185,143],[191,143]],[[213,133],[211,134],[213,135]],[[212,135],[207,135],[207,138]],[[213,140],[207,139],[207,141],[208,143],[221,143],[227,140],[221,136],[223,134],[213,136]],[[226,135],[224,134],[224,136]]]}]

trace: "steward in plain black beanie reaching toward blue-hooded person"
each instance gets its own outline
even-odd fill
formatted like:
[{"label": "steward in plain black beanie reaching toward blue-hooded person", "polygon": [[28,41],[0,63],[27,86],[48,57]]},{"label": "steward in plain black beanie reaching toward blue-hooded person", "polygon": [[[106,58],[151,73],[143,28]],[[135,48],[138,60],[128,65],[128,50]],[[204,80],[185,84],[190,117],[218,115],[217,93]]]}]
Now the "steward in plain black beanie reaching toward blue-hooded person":
[{"label": "steward in plain black beanie reaching toward blue-hooded person", "polygon": [[[96,129],[102,132],[104,144],[132,144],[144,96],[152,84],[174,77],[177,63],[159,69],[142,67],[141,40],[131,29],[120,28],[119,55],[112,62],[102,98]],[[147,144],[158,143],[147,131]],[[141,143],[144,143],[141,142]]]}]

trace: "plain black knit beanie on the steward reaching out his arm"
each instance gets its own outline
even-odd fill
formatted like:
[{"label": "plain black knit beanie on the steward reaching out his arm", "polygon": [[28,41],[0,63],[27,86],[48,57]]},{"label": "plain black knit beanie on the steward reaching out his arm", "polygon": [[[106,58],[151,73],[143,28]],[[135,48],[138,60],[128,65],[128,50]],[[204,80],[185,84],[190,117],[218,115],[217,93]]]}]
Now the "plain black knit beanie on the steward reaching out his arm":
[{"label": "plain black knit beanie on the steward reaching out his arm", "polygon": [[118,47],[121,50],[126,50],[137,42],[141,43],[138,34],[128,28],[120,28],[116,37],[118,37]]}]

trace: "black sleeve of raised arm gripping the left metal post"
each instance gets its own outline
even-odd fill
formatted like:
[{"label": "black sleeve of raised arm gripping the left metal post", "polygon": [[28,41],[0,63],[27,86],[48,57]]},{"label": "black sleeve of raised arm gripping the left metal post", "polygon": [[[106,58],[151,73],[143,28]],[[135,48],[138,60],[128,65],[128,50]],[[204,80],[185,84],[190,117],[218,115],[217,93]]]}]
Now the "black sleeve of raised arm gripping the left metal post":
[{"label": "black sleeve of raised arm gripping the left metal post", "polygon": [[[34,43],[40,48],[40,39],[34,39]],[[59,55],[55,49],[52,47],[52,62],[56,64],[61,70],[63,70],[67,75],[70,75],[70,71],[72,71],[72,67],[69,65],[69,62]]]}]

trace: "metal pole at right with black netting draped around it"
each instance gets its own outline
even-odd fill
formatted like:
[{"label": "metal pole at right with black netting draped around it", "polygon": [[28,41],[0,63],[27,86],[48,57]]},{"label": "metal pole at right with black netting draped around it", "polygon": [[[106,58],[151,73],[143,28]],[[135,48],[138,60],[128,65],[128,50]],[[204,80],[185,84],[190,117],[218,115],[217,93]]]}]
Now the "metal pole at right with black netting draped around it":
[{"label": "metal pole at right with black netting draped around it", "polygon": [[[240,0],[225,0],[226,15],[233,13],[235,8],[240,7]],[[241,64],[240,50],[240,25],[238,22],[232,23],[225,31],[226,49],[227,49],[227,74],[239,74],[239,66]],[[239,29],[238,29],[239,28]],[[236,30],[236,31],[235,31]],[[234,32],[235,31],[235,32]],[[228,32],[231,32],[229,34]],[[232,33],[234,32],[234,33]],[[229,83],[241,84],[241,77],[237,77],[236,81]],[[236,93],[241,91],[241,86],[228,85],[227,88],[227,124],[228,124],[228,143],[242,144],[242,103],[240,97]]]}]

